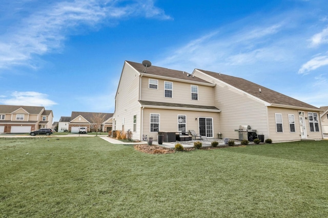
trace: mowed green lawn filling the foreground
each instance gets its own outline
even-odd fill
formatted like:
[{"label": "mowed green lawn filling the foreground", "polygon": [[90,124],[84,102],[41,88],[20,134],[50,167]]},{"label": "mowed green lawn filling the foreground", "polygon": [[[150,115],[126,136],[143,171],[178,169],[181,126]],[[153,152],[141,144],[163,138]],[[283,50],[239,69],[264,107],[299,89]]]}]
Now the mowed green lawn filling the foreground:
[{"label": "mowed green lawn filling the foreground", "polygon": [[150,155],[0,138],[1,217],[328,217],[328,141]]}]

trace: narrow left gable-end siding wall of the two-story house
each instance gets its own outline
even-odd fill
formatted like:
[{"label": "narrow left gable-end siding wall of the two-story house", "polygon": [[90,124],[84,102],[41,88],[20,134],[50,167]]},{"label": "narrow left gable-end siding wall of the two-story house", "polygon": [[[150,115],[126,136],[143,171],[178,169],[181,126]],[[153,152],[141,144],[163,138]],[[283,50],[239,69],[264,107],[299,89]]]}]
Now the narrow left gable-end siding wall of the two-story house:
[{"label": "narrow left gable-end siding wall of the two-story house", "polygon": [[133,133],[133,139],[140,139],[139,78],[139,73],[128,63],[125,63],[115,98],[113,130],[127,131],[130,129],[133,131],[133,116],[137,115],[137,132]]}]

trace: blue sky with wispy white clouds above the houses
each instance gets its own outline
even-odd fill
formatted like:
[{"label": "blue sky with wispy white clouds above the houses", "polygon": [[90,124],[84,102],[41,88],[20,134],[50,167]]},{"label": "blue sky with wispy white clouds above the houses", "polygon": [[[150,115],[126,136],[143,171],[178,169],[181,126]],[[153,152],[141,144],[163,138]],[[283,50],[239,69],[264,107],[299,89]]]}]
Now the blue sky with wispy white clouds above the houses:
[{"label": "blue sky with wispy white clouds above the houses", "polygon": [[241,77],[328,106],[324,0],[0,0],[0,104],[114,112],[125,60]]}]

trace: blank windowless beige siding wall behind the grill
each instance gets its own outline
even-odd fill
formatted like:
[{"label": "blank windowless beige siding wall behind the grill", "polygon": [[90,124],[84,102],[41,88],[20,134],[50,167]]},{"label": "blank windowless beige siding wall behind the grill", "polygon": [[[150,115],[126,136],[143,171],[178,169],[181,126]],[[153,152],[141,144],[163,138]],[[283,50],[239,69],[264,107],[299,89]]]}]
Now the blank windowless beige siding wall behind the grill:
[{"label": "blank windowless beige siding wall behind the grill", "polygon": [[238,129],[239,125],[249,125],[257,130],[257,134],[264,134],[264,138],[268,137],[267,108],[264,102],[197,70],[194,71],[194,75],[216,84],[214,106],[221,110],[219,124],[222,137],[238,139],[238,131],[235,129]]}]

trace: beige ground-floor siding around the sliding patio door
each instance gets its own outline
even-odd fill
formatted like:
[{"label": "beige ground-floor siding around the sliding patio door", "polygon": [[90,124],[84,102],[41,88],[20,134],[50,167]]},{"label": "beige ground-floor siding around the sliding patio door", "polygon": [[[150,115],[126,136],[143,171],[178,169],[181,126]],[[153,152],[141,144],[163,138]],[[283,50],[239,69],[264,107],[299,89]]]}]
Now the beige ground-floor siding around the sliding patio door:
[{"label": "beige ground-floor siding around the sliding patio door", "polygon": [[[214,138],[217,138],[219,133],[219,113],[217,112],[200,112],[200,111],[187,111],[187,110],[168,110],[168,109],[144,109],[144,134],[148,137],[154,137],[157,140],[157,132],[150,132],[150,114],[159,114],[159,131],[162,132],[177,132],[178,131],[178,115],[186,115],[186,130],[198,130],[199,117],[213,118],[213,134]],[[197,118],[197,120],[195,119]]]}]

